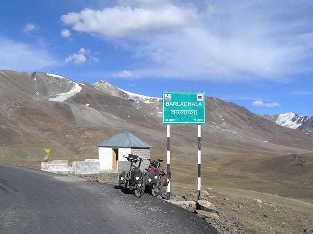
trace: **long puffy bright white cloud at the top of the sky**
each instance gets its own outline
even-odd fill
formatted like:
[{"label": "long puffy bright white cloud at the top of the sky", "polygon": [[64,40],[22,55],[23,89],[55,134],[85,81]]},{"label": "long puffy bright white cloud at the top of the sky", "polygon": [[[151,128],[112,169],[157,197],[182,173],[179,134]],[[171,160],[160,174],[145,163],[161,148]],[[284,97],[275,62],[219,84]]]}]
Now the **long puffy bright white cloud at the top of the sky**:
[{"label": "long puffy bright white cloud at the top of the sky", "polygon": [[102,11],[83,9],[61,17],[79,32],[97,33],[104,37],[123,37],[133,33],[149,33],[164,29],[177,29],[198,17],[195,8],[182,8],[169,4],[161,8],[115,6]]}]

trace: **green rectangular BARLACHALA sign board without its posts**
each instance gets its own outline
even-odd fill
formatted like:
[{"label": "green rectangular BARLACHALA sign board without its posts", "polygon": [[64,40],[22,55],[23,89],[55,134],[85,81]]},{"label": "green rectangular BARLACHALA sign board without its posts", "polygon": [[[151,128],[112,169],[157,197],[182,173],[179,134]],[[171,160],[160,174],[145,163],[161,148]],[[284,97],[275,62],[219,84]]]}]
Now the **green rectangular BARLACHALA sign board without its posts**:
[{"label": "green rectangular BARLACHALA sign board without its posts", "polygon": [[204,93],[163,93],[163,124],[204,124]]}]

